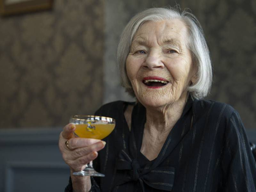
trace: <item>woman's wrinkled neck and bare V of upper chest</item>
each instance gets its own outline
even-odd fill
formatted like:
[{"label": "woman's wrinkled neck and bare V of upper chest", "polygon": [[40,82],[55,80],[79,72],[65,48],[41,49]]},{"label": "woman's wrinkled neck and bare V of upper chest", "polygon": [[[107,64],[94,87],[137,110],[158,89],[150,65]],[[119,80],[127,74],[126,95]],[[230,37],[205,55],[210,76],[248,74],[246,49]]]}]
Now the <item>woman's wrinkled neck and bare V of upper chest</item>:
[{"label": "woman's wrinkled neck and bare V of upper chest", "polygon": [[160,153],[172,127],[182,115],[187,98],[187,95],[185,95],[176,102],[164,107],[146,107],[147,121],[144,127],[140,152],[150,161]]}]

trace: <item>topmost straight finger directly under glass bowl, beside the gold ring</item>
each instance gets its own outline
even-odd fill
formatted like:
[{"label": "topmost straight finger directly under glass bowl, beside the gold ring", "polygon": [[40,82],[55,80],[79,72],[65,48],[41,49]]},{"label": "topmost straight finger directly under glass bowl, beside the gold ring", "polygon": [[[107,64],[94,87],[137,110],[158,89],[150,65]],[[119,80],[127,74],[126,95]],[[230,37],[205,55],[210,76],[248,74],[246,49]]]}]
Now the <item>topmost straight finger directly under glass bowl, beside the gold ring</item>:
[{"label": "topmost straight finger directly under glass bowl, beside the gold ring", "polygon": [[89,138],[72,138],[68,140],[68,148],[69,149],[76,149],[76,148],[83,148],[88,147],[94,143],[102,142],[104,145],[106,144],[105,141],[99,139],[89,139]]}]

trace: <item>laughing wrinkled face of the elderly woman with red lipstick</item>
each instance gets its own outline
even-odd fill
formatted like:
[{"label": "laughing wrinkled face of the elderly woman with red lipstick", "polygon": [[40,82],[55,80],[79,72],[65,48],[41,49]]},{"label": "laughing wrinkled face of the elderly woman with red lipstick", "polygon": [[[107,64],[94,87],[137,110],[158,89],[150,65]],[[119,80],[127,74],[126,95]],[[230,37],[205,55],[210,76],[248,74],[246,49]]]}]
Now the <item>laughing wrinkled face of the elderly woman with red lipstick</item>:
[{"label": "laughing wrinkled face of the elderly woman with red lipstick", "polygon": [[136,98],[145,107],[186,98],[186,88],[196,80],[187,40],[187,28],[178,19],[147,21],[135,34],[126,71]]}]

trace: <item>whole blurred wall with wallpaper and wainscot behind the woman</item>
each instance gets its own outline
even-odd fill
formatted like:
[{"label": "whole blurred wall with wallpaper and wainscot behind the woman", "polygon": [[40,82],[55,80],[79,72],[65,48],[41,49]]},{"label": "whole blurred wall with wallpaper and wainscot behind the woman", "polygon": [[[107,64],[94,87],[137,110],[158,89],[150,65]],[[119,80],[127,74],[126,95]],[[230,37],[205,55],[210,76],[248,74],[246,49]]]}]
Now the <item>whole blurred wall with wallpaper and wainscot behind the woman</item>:
[{"label": "whole blurred wall with wallpaper and wainscot behind the woman", "polygon": [[[50,4],[20,13],[17,2]],[[214,72],[207,99],[233,106],[256,141],[256,0],[1,0],[0,191],[15,191],[10,186],[19,174],[29,180],[35,167],[45,177],[55,167],[65,187],[68,168],[59,163],[57,147],[61,127],[70,115],[134,100],[119,84],[118,38],[137,12],[176,4],[189,8],[205,32]],[[17,146],[19,156],[10,153]]]}]

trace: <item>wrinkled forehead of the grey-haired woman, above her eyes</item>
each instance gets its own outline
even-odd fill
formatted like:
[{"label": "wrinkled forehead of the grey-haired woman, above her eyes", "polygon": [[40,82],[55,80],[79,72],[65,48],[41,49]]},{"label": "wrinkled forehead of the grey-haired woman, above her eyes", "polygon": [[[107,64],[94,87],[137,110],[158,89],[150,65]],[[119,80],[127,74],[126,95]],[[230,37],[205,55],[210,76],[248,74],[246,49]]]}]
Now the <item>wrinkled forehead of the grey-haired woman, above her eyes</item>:
[{"label": "wrinkled forehead of the grey-haired woman, above her eyes", "polygon": [[159,44],[186,46],[188,29],[182,20],[146,21],[135,33],[132,44],[149,43],[156,40]]}]

